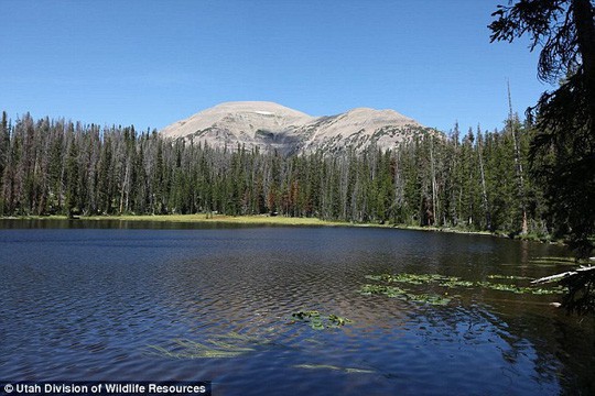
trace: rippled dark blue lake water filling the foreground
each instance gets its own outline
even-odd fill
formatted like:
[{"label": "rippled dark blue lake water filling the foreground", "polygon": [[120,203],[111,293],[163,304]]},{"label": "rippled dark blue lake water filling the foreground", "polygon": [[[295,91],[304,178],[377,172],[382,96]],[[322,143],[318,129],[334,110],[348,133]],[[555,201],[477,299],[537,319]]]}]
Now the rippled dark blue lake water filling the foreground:
[{"label": "rippled dark blue lake water filling the foreground", "polygon": [[[212,381],[214,395],[595,394],[592,319],[549,306],[559,295],[477,286],[565,271],[552,258],[563,248],[392,229],[98,226],[0,222],[0,380]],[[382,284],[367,275],[399,273],[474,286],[390,284],[445,305],[358,293]],[[293,320],[307,310],[327,327],[329,315],[351,322]]]}]

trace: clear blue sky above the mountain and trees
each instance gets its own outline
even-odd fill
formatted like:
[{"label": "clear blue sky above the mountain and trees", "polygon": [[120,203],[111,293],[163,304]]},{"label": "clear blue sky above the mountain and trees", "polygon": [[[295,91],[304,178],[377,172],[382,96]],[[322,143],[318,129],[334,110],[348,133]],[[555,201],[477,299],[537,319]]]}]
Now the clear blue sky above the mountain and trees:
[{"label": "clear blue sky above the mountain and trees", "polygon": [[326,116],[394,109],[501,128],[552,87],[527,41],[489,43],[507,0],[0,0],[0,110],[161,129],[219,102]]}]

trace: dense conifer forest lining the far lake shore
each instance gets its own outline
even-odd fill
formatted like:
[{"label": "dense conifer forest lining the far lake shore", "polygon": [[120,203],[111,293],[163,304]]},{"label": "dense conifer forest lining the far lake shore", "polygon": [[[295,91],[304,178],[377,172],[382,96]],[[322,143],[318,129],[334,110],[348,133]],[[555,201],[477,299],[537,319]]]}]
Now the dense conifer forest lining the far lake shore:
[{"label": "dense conifer forest lining the far lake shore", "polygon": [[3,112],[0,216],[279,213],[548,235],[531,139],[509,117],[502,130],[455,125],[391,151],[284,157]]}]

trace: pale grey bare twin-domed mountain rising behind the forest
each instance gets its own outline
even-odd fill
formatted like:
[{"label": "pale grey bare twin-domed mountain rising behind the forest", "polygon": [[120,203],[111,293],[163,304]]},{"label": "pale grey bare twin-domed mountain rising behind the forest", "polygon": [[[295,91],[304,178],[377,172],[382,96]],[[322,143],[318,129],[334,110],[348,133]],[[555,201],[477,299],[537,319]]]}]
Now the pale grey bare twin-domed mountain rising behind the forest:
[{"label": "pale grey bare twin-domed mountain rising behind the forest", "polygon": [[393,147],[429,129],[394,110],[358,108],[337,116],[312,117],[266,101],[226,102],[165,127],[165,138],[193,139],[213,147],[277,150],[283,154],[322,150],[361,151],[371,144]]}]

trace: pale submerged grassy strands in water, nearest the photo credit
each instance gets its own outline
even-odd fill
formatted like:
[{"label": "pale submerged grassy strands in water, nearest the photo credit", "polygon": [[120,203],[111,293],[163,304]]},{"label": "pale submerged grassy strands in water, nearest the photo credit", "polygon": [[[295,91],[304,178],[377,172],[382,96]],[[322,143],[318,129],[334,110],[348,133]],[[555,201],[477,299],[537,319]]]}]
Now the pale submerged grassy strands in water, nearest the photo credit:
[{"label": "pale submerged grassy strands in water, nearest the photo credit", "polygon": [[229,332],[208,339],[204,343],[187,339],[175,339],[173,343],[175,345],[171,350],[160,345],[149,345],[148,349],[151,354],[173,359],[226,359],[256,351],[256,345],[268,342]]}]

